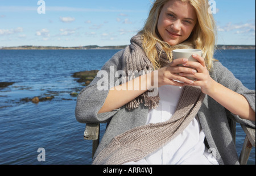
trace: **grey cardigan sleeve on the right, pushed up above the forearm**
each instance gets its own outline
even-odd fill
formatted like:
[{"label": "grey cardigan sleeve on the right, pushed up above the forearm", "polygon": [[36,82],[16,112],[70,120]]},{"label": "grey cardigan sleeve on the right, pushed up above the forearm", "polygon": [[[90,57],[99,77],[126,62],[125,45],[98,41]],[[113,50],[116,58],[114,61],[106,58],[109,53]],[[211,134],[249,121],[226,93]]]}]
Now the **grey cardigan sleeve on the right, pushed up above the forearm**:
[{"label": "grey cardigan sleeve on the right, pushed up above the forearm", "polygon": [[[228,89],[235,91],[238,94],[243,95],[246,98],[247,102],[250,104],[250,107],[255,112],[255,90],[249,90],[247,87],[243,86],[242,82],[234,77],[233,73],[230,72],[225,66],[220,62],[214,62],[214,73],[218,83],[228,87]],[[234,115],[230,112],[232,118],[237,121],[237,123],[249,125],[252,128],[255,128],[255,121],[246,120],[240,118],[238,115]]]}]

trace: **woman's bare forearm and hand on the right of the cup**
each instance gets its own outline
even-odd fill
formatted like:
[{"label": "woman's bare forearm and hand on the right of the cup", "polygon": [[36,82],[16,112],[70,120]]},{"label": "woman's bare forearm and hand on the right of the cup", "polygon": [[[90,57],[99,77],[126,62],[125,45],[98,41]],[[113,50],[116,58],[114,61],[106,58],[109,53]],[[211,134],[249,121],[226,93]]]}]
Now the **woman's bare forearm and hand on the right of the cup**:
[{"label": "woman's bare forearm and hand on the right of the cup", "polygon": [[[195,78],[196,81],[190,85],[200,86],[204,94],[212,97],[233,114],[239,115],[243,119],[255,121],[255,112],[250,107],[245,97],[214,81],[209,75],[203,57],[195,55],[193,58],[199,62],[187,62],[183,65],[195,68],[197,73],[179,73],[179,75]],[[185,83],[185,85],[188,84]]]}]

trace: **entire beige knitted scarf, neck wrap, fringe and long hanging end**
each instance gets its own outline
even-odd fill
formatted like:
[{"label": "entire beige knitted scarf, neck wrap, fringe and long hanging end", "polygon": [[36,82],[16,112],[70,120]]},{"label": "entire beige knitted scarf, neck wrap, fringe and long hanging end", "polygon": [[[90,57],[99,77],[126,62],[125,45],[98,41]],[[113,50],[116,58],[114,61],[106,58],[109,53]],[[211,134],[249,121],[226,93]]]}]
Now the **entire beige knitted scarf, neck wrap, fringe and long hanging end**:
[{"label": "entire beige knitted scarf, neck wrap, fringe and long hanging end", "polygon": [[[137,70],[144,69],[150,72],[152,64],[148,61],[140,47],[141,37],[135,36],[131,41],[130,47],[126,48],[124,53],[125,68],[127,70],[132,68]],[[135,56],[137,56],[138,60],[130,60],[131,58],[136,58]],[[138,161],[161,148],[179,135],[191,123],[199,111],[204,97],[205,94],[201,92],[200,87],[185,86],[176,111],[170,120],[133,128],[114,137],[97,155],[93,164],[124,164],[130,161]],[[138,107],[143,100],[145,100],[145,106],[154,108],[158,105],[159,96],[149,98],[146,95],[141,95],[133,100],[128,107]]]}]

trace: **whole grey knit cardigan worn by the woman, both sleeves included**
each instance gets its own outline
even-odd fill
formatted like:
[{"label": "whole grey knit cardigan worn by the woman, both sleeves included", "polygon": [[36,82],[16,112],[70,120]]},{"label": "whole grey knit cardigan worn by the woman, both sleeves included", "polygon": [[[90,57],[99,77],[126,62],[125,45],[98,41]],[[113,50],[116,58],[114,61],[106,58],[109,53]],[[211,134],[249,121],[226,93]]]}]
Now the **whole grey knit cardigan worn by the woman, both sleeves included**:
[{"label": "whole grey knit cardigan worn by the woman, both sleeves included", "polygon": [[[106,62],[101,70],[105,70],[108,74],[110,73],[110,66],[114,66],[114,72],[122,70],[124,66],[122,54],[123,50],[117,52]],[[243,86],[241,81],[236,79],[220,62],[216,61],[213,63],[210,75],[218,83],[243,95],[255,112],[255,91]],[[131,111],[127,111],[125,106],[123,106],[111,112],[98,114],[109,93],[109,89],[101,91],[97,89],[97,82],[100,79],[102,81],[102,77],[94,78],[89,86],[80,91],[75,110],[76,119],[80,123],[108,123],[94,158],[112,141],[113,137],[129,129],[145,125],[148,115],[148,108],[143,104]],[[115,78],[115,81],[117,79]],[[110,78],[106,81],[109,80]],[[205,133],[205,144],[216,152],[218,163],[228,165],[239,164],[236,145],[229,128],[230,119],[237,121],[237,123],[249,125],[252,128],[255,128],[255,122],[241,119],[239,116],[230,113],[207,95],[197,116]]]}]

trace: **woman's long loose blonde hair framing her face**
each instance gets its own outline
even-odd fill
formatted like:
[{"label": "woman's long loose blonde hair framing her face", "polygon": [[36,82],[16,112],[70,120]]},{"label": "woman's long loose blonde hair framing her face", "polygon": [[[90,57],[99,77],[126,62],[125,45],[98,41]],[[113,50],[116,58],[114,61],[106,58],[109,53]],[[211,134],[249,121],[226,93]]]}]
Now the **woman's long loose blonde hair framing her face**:
[{"label": "woman's long loose blonde hair framing her face", "polygon": [[195,48],[203,51],[207,69],[212,68],[213,55],[216,43],[216,26],[213,15],[208,12],[208,0],[180,0],[190,3],[196,11],[197,23],[188,37],[181,44],[170,46],[168,43],[160,40],[157,30],[158,18],[163,6],[172,0],[156,0],[150,10],[150,14],[144,24],[143,29],[139,32],[143,37],[143,49],[148,59],[152,62],[155,69],[160,68],[159,55],[156,51],[156,43],[162,45],[163,50],[168,55],[168,60],[172,61],[172,51],[181,48]]}]

